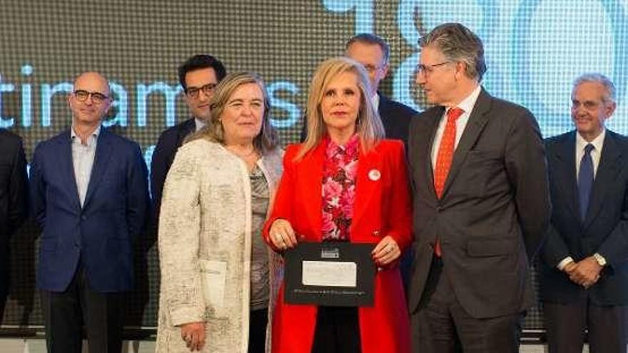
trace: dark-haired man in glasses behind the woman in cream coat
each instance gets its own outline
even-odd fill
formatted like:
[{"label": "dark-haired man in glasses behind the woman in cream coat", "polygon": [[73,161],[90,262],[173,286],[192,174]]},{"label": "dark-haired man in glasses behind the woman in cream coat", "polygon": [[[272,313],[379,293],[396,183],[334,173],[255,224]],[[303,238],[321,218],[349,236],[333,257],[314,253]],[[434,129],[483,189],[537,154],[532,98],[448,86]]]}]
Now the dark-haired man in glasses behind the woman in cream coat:
[{"label": "dark-haired man in glasses behind the woman in cream coat", "polygon": [[221,61],[211,55],[198,54],[188,58],[178,68],[178,78],[192,118],[163,131],[157,141],[151,160],[151,195],[155,206],[154,215],[158,216],[161,206],[161,192],[166,175],[174,160],[174,155],[183,144],[183,139],[205,126],[211,117],[209,101],[213,89],[226,76],[226,69]]}]

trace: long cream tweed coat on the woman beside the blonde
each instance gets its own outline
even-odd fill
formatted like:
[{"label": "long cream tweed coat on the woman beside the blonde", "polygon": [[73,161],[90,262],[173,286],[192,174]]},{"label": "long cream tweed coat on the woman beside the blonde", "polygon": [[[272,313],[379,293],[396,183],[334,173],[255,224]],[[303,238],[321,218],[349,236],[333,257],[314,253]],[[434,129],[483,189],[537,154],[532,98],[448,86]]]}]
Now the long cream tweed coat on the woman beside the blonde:
[{"label": "long cream tweed coat on the woman beside the blonde", "polygon": [[[269,211],[282,154],[278,148],[258,160],[268,180]],[[206,322],[202,352],[247,352],[251,217],[250,178],[243,160],[204,139],[179,148],[161,200],[156,352],[189,352],[178,326],[201,321]],[[270,249],[268,256],[270,323],[283,262]],[[270,339],[268,329],[267,351]]]}]

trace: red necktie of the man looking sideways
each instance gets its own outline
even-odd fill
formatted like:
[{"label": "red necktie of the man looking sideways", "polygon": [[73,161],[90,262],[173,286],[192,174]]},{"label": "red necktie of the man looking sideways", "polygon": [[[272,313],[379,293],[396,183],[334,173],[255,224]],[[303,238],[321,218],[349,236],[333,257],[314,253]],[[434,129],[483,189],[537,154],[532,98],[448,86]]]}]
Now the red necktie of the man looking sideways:
[{"label": "red necktie of the man looking sideways", "polygon": [[[445,180],[447,180],[447,174],[449,174],[449,169],[454,158],[456,120],[457,118],[460,118],[462,113],[465,113],[465,111],[457,107],[450,108],[450,110],[447,111],[445,132],[442,133],[442,138],[440,139],[438,154],[436,156],[436,165],[434,168],[434,190],[436,190],[437,198],[442,197],[442,191],[445,189]],[[438,239],[436,240],[436,244],[434,246],[434,253],[438,257],[442,255]]]}]

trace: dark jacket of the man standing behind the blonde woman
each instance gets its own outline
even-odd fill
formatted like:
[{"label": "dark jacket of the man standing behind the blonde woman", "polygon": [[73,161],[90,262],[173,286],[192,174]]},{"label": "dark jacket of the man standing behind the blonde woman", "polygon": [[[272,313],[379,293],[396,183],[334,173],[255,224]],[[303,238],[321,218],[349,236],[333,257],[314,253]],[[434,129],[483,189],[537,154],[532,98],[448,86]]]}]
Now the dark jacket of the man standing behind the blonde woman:
[{"label": "dark jacket of the man standing behind the blonde woman", "polygon": [[[379,93],[380,105],[378,113],[384,124],[386,138],[394,140],[402,140],[407,150],[407,133],[410,127],[410,121],[413,116],[418,113],[414,109],[405,104],[393,101],[390,98]],[[307,114],[303,116],[303,128],[301,128],[301,141],[303,142],[308,135]]]}]

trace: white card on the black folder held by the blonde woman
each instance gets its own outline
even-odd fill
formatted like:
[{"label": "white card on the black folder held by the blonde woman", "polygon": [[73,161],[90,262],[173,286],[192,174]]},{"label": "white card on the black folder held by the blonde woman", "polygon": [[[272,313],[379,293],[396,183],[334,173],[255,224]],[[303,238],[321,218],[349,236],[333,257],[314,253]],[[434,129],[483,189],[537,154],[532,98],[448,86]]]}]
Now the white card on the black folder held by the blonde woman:
[{"label": "white card on the black folder held by the blonde woman", "polygon": [[303,285],[356,287],[358,265],[355,262],[303,261]]}]

